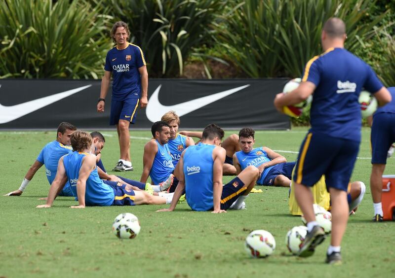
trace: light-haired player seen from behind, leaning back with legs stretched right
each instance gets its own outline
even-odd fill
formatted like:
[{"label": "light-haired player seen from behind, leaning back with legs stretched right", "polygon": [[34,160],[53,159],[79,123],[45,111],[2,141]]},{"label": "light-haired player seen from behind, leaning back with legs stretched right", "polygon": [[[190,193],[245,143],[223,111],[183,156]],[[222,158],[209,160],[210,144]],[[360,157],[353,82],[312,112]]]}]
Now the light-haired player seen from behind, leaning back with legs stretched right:
[{"label": "light-haired player seen from behind, leaning back with legs stretched right", "polygon": [[66,180],[70,182],[73,194],[78,197],[78,206],[134,206],[170,204],[173,194],[166,197],[152,196],[145,191],[126,189],[125,184],[113,182],[106,184],[99,178],[96,167],[96,156],[89,153],[92,137],[83,131],[72,134],[73,152],[60,158],[56,177],[49,189],[45,205],[37,208],[49,208],[57,194],[62,190]]}]

